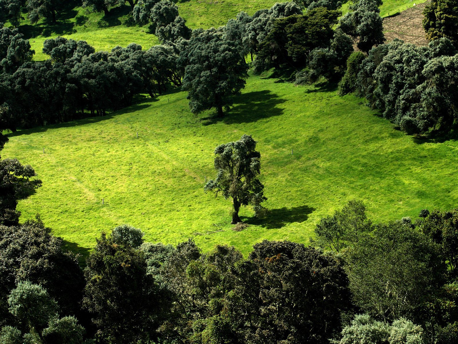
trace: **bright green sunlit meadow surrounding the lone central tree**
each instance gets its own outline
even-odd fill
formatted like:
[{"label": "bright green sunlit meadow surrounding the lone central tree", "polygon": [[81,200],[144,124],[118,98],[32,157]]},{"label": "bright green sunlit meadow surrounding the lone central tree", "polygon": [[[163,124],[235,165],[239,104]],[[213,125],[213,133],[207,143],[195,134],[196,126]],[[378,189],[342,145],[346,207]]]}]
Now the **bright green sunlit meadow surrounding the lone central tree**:
[{"label": "bright green sunlit meadow surrounding the lone central tree", "polygon": [[[320,218],[353,198],[375,221],[457,204],[457,143],[418,142],[353,96],[252,76],[221,121],[192,115],[185,97],[174,92],[111,116],[11,135],[2,157],[32,164],[43,179],[19,203],[22,220],[39,212],[80,252],[101,231],[129,223],[150,241],[192,237],[205,250],[227,243],[246,254],[262,239],[308,242]],[[214,148],[243,133],[258,141],[271,213],[258,220],[244,209],[251,226],[234,232],[230,201],[203,185],[214,175]]]}]

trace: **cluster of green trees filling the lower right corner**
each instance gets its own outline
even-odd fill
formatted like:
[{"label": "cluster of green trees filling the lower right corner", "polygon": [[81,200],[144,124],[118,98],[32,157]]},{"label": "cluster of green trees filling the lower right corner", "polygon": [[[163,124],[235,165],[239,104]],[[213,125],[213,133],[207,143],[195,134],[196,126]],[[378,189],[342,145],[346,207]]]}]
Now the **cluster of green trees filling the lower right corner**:
[{"label": "cluster of green trees filling the lower right corner", "polygon": [[[456,217],[457,210],[423,210],[414,223],[403,217],[372,224],[364,204],[352,200],[317,224],[311,244],[343,261],[353,305],[364,314],[333,343],[457,340]],[[358,239],[353,228],[360,228]]]}]

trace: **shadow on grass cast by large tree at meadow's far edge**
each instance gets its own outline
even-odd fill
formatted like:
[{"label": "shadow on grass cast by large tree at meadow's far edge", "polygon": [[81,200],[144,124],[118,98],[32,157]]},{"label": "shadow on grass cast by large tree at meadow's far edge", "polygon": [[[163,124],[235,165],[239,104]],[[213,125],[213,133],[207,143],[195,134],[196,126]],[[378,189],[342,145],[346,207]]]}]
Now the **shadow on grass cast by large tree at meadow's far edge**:
[{"label": "shadow on grass cast by large tree at meadow's far edge", "polygon": [[237,97],[237,103],[223,117],[202,118],[203,125],[224,122],[226,124],[256,122],[262,118],[280,116],[283,108],[279,104],[286,100],[278,97],[269,90],[243,93]]}]

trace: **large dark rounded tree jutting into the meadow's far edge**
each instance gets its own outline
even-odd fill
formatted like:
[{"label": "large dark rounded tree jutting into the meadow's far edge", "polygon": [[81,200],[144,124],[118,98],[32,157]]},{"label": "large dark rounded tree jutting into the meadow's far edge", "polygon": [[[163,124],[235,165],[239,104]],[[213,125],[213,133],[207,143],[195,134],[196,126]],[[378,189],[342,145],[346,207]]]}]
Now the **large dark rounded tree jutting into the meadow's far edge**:
[{"label": "large dark rounded tree jutting into the meadow's far edge", "polygon": [[208,29],[191,38],[187,49],[180,53],[185,69],[183,89],[188,90],[193,113],[212,107],[223,116],[223,106],[245,87],[248,65],[234,42],[225,40],[215,29]]}]

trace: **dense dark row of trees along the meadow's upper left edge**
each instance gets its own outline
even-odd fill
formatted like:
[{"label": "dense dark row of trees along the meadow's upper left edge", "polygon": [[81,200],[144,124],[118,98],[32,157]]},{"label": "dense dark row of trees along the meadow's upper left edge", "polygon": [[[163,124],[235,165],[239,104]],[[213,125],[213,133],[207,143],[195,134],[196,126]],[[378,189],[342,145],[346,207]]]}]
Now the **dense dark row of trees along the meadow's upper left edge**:
[{"label": "dense dark row of trees along the meadow's upper left edge", "polygon": [[[136,94],[154,96],[181,85],[178,51],[172,45],[142,50],[138,44],[95,52],[85,41],[58,37],[44,42],[46,61],[30,61],[27,40],[2,28],[0,129],[30,128],[104,115],[132,103]],[[1,53],[0,53],[1,54]]]}]

